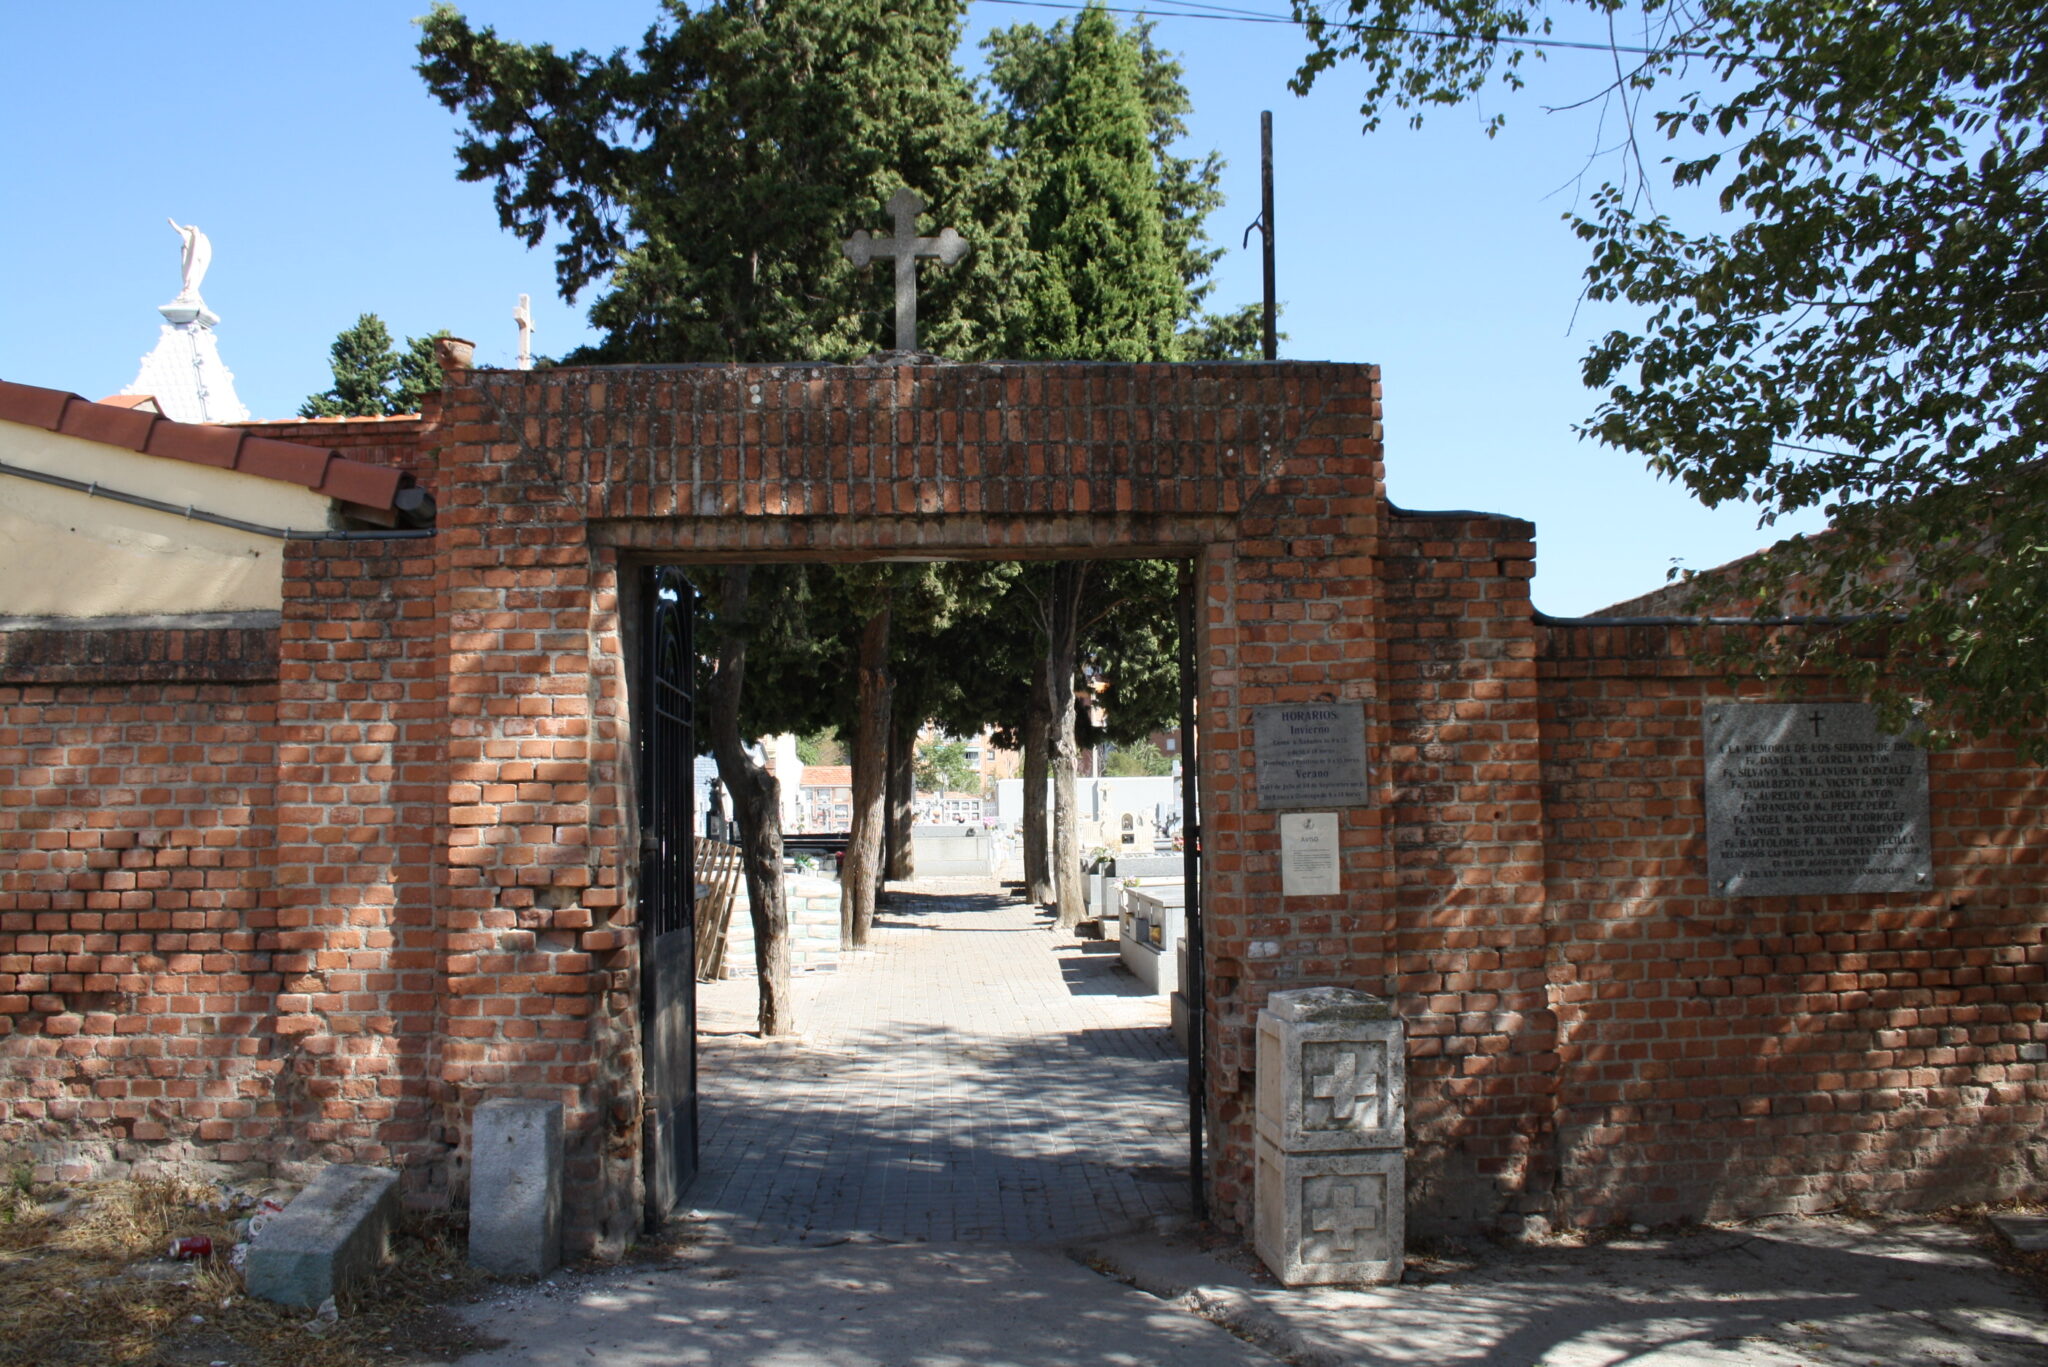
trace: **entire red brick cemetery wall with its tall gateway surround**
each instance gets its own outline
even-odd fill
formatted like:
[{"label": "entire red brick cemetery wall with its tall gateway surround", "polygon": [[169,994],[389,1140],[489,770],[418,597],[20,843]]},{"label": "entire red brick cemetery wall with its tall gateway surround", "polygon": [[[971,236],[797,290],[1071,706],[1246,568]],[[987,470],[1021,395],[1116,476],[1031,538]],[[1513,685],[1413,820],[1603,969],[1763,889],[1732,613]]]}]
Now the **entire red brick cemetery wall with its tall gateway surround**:
[{"label": "entire red brick cemetery wall with its tall gateway surround", "polygon": [[6,1152],[461,1203],[477,1107],[557,1101],[565,1250],[625,1242],[639,570],[1149,555],[1200,590],[1223,1219],[1257,1017],[1325,986],[1403,1025],[1417,1232],[2048,1193],[2040,771],[1802,680],[1880,748],[1794,859],[1815,756],[1692,664],[1724,627],[1538,617],[1528,523],[1386,502],[1372,367],[451,371],[410,437],[436,535],[291,543],[262,639],[6,633]]}]

